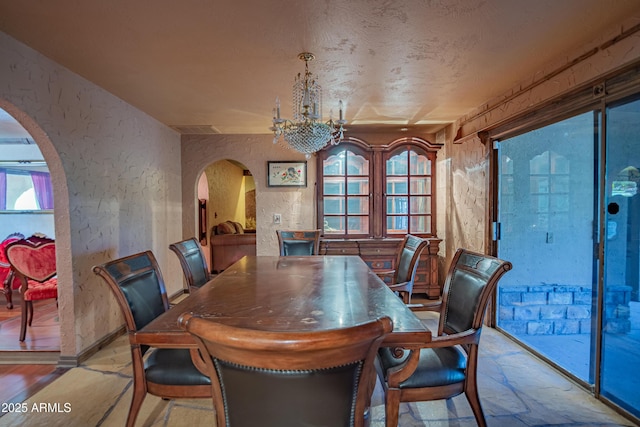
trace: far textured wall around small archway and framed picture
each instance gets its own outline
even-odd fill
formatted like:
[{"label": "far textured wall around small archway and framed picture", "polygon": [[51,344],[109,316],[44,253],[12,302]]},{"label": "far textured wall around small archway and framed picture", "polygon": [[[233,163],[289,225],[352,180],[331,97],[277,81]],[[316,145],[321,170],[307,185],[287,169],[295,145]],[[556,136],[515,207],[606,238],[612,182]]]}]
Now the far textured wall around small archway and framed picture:
[{"label": "far textured wall around small archway and framed picture", "polygon": [[[256,241],[258,255],[277,255],[276,229],[315,228],[316,163],[307,161],[306,188],[267,187],[267,161],[304,160],[304,155],[274,145],[271,135],[185,135],[182,137],[183,234],[196,230],[195,191],[199,174],[218,160],[244,164],[256,185]],[[273,214],[282,224],[273,223]],[[220,219],[220,217],[218,217]],[[213,225],[213,224],[212,224]]]}]

